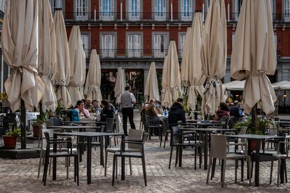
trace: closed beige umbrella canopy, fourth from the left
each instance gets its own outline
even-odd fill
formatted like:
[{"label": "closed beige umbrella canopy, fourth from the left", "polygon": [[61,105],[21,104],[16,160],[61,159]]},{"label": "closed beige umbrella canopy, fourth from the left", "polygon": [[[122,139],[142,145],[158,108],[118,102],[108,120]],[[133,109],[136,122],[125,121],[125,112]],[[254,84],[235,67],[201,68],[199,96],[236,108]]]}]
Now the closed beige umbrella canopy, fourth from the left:
[{"label": "closed beige umbrella canopy, fourth from the left", "polygon": [[76,101],[83,99],[79,87],[83,82],[83,66],[85,66],[85,55],[83,51],[83,43],[81,41],[80,27],[74,25],[69,36],[69,61],[70,61],[70,82],[67,90],[71,96],[71,104],[76,104]]}]

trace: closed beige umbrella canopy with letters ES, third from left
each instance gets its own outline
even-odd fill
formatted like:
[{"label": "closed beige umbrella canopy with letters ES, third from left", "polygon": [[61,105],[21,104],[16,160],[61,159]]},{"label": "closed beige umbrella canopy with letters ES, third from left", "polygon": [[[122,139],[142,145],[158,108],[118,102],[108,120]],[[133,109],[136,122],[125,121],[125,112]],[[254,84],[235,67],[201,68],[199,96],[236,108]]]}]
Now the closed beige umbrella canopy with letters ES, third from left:
[{"label": "closed beige umbrella canopy with letters ES, third from left", "polygon": [[54,20],[57,63],[53,84],[57,87],[57,101],[64,108],[69,108],[71,106],[71,97],[67,91],[67,85],[70,82],[69,44],[62,10],[55,10]]}]

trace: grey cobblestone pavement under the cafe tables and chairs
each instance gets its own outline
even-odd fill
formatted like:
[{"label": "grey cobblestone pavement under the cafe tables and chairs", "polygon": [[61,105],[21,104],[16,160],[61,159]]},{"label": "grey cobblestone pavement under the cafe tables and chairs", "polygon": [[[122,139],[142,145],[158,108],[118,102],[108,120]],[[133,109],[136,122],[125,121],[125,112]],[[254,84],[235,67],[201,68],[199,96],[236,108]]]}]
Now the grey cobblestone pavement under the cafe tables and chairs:
[{"label": "grey cobblestone pavement under the cafe tables and chairs", "polygon": [[[138,118],[138,117],[137,117]],[[139,123],[136,124],[139,127]],[[167,143],[168,144],[168,143]],[[175,151],[174,151],[175,152]],[[216,168],[216,176],[205,183],[207,171],[194,170],[193,150],[184,150],[184,162],[182,167],[168,169],[170,148],[159,148],[158,137],[153,137],[146,142],[146,172],[147,187],[144,185],[141,160],[132,159],[132,176],[129,166],[126,168],[125,180],[120,180],[120,173],[116,184],[111,186],[112,155],[108,157],[107,176],[104,177],[104,168],[99,165],[99,151],[92,150],[92,184],[86,184],[86,162],[80,163],[80,185],[74,183],[74,167],[69,168],[69,179],[66,179],[64,159],[57,160],[57,180],[53,181],[48,176],[47,185],[44,187],[37,178],[39,159],[1,159],[0,158],[0,192],[290,192],[290,183],[277,187],[277,162],[274,164],[273,181],[269,185],[270,163],[261,163],[261,186],[249,185],[248,180],[240,181],[240,168],[238,182],[235,180],[235,167],[233,161],[228,161],[226,166],[226,186],[221,188],[220,170]],[[84,156],[84,159],[85,156]],[[127,162],[126,162],[127,164]],[[120,166],[119,170],[120,171]],[[246,176],[246,171],[244,176]],[[287,171],[290,171],[287,162]],[[42,174],[42,173],[41,173]],[[253,179],[254,181],[254,179]]]}]

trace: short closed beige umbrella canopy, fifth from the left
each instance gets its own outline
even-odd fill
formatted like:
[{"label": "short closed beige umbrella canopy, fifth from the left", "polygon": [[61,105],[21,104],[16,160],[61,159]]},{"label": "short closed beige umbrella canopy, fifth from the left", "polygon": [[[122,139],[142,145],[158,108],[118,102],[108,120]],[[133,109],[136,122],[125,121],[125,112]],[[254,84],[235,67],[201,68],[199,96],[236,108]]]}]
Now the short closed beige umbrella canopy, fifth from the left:
[{"label": "short closed beige umbrella canopy, fifth from the left", "polygon": [[95,49],[90,55],[90,66],[88,69],[87,80],[85,81],[85,94],[92,100],[102,101],[101,87],[101,65],[99,55]]}]

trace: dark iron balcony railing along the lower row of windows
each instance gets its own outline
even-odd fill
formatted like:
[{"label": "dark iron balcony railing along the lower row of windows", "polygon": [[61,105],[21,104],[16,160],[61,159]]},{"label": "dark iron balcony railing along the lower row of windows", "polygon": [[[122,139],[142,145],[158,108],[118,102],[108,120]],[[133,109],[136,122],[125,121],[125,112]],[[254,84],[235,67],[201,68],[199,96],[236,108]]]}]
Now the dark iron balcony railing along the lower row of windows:
[{"label": "dark iron balcony railing along the lower row of windows", "polygon": [[[167,49],[97,49],[100,58],[155,58],[162,59],[167,55]],[[85,56],[90,58],[91,49],[85,49]],[[181,57],[182,50],[177,50]]]}]

